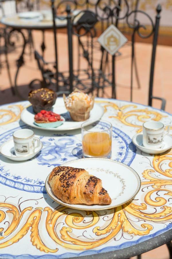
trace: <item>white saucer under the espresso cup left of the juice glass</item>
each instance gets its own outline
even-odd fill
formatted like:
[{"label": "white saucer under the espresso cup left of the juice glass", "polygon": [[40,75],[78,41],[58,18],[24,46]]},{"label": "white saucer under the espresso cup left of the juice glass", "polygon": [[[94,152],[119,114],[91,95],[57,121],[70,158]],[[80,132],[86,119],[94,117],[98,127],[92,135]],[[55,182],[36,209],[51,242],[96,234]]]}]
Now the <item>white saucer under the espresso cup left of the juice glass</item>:
[{"label": "white saucer under the espresso cup left of the juice glass", "polygon": [[13,142],[13,139],[11,139],[11,140],[8,140],[7,142],[3,143],[0,146],[0,153],[4,157],[7,157],[8,159],[11,159],[13,161],[26,161],[26,160],[29,160],[29,159],[33,158],[34,156],[36,156],[39,153],[39,151],[42,149],[42,146],[43,146],[43,144],[40,141],[40,144],[37,148],[35,148],[34,153],[28,154],[25,156],[21,156],[21,157],[17,157],[15,155],[14,142]]}]

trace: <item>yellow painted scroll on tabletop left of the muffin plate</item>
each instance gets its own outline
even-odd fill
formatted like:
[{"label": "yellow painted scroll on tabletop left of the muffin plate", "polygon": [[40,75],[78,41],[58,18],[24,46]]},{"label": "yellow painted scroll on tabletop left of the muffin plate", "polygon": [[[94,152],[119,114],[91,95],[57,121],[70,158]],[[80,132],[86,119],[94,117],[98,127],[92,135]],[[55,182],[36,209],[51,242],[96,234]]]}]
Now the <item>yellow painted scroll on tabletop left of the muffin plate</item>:
[{"label": "yellow painted scroll on tabletop left of the muffin plate", "polygon": [[9,105],[6,109],[0,109],[0,126],[20,119],[24,107],[20,104]]}]

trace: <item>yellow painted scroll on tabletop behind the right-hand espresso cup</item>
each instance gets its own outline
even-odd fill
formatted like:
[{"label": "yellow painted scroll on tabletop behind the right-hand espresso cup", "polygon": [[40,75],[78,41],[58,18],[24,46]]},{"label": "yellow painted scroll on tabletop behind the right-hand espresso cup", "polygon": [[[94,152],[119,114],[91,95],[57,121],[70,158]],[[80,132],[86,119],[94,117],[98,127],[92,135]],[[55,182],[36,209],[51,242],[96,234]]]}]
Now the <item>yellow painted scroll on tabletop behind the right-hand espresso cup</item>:
[{"label": "yellow painted scroll on tabletop behind the right-hand espresso cup", "polygon": [[[121,123],[123,123],[126,126],[135,127],[137,129],[137,133],[142,131],[142,123],[145,121],[152,119],[154,121],[159,121],[163,117],[168,117],[166,115],[162,115],[158,111],[155,110],[149,110],[148,108],[138,109],[137,105],[134,104],[127,104],[123,105],[122,107],[119,107],[114,102],[108,102],[108,101],[96,101],[97,103],[105,104],[103,105],[105,109],[105,113],[107,112],[108,107],[112,107],[117,111],[117,114],[114,116],[109,116],[109,118],[118,119]],[[126,111],[127,108],[132,108],[129,111]],[[133,124],[129,121],[130,117],[135,117],[135,121],[140,122],[140,125]]]}]

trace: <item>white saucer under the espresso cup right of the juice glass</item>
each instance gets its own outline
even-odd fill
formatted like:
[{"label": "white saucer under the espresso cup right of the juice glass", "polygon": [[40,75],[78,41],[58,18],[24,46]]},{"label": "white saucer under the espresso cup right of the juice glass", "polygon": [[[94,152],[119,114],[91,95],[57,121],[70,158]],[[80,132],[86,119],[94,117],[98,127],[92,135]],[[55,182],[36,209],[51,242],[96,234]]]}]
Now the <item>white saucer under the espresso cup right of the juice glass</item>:
[{"label": "white saucer under the espresso cup right of the juice glass", "polygon": [[169,150],[172,148],[172,137],[170,135],[166,135],[164,137],[164,142],[161,148],[156,148],[156,149],[150,149],[146,148],[143,146],[143,134],[138,133],[134,135],[132,138],[132,142],[135,146],[137,146],[141,151],[148,153],[148,154],[161,154],[164,153],[165,151]]}]

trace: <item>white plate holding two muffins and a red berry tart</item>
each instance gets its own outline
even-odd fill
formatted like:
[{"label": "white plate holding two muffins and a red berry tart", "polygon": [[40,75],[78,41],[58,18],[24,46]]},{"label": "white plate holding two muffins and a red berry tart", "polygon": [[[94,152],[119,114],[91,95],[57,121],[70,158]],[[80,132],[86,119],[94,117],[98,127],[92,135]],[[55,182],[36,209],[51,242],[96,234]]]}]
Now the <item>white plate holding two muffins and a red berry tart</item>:
[{"label": "white plate holding two muffins and a red berry tart", "polygon": [[[25,108],[21,113],[21,120],[36,129],[44,129],[44,130],[53,130],[53,131],[63,131],[63,130],[72,130],[72,129],[80,129],[83,121],[73,121],[67,111],[63,98],[57,98],[56,103],[52,107],[52,111],[54,113],[60,114],[66,120],[62,125],[56,128],[41,128],[34,124],[34,116],[35,113],[33,111],[32,106]],[[88,119],[93,121],[101,119],[104,113],[104,108],[99,104],[94,104],[93,109],[90,111],[90,117]],[[88,124],[89,125],[89,124]]]}]

